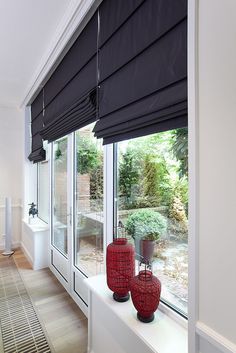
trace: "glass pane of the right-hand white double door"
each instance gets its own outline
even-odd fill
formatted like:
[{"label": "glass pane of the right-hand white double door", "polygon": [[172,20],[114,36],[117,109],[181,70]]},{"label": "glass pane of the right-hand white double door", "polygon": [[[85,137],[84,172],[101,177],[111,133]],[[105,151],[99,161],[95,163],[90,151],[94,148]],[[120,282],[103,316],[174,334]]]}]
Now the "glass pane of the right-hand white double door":
[{"label": "glass pane of the right-hand white double door", "polygon": [[75,265],[87,276],[103,271],[103,149],[93,126],[76,132]]}]

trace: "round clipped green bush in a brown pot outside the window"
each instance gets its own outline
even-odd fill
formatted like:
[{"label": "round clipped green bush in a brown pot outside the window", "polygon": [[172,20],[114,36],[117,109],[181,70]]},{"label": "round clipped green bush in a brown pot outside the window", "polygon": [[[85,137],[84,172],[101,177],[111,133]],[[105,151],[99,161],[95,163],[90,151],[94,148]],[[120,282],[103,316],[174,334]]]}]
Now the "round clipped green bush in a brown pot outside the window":
[{"label": "round clipped green bush in a brown pot outside the window", "polygon": [[150,263],[156,241],[167,230],[167,222],[159,212],[142,209],[128,216],[126,230],[134,239],[136,258]]}]

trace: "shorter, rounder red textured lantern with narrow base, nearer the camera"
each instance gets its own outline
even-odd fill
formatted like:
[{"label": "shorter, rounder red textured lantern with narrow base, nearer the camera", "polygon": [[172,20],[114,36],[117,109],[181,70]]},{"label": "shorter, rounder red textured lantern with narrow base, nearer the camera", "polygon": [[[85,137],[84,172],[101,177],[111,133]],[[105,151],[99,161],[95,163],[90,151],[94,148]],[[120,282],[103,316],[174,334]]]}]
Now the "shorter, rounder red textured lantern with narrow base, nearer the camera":
[{"label": "shorter, rounder red textured lantern with narrow base, nearer the camera", "polygon": [[142,322],[151,322],[154,312],[157,310],[160,295],[161,282],[151,271],[140,271],[130,283],[131,298],[138,311],[137,317]]}]

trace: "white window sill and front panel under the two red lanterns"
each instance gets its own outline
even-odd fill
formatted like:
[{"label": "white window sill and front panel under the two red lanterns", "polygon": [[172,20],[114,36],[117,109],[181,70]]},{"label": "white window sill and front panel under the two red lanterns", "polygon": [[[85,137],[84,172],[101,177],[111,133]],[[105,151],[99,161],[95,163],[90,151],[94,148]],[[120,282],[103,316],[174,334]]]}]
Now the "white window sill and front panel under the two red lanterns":
[{"label": "white window sill and front panel under the two red lanterns", "polygon": [[[113,340],[114,345],[119,346],[117,352],[128,353],[131,347],[134,348],[135,345],[137,345],[138,351],[142,352],[188,352],[188,335],[187,329],[184,327],[186,326],[186,320],[174,312],[169,315],[168,313],[172,312],[172,310],[169,308],[166,310],[164,304],[161,304],[159,310],[155,313],[154,321],[144,324],[137,320],[136,310],[131,300],[126,303],[117,303],[112,299],[112,292],[107,288],[104,275],[90,277],[85,281],[89,288],[91,300],[91,303],[89,303],[89,327],[91,330],[89,332],[89,352],[112,351],[111,340]],[[108,343],[102,337],[99,342],[96,337],[96,315],[93,311],[101,310],[101,307],[96,307],[98,304],[103,307],[104,311],[101,325],[99,323],[98,325],[104,327],[104,334],[107,331],[110,332],[111,339],[108,340]],[[124,329],[123,333],[119,334],[117,332],[114,335],[115,332],[112,332],[113,325],[116,329],[119,329],[120,325],[120,329]],[[124,337],[124,334],[127,337]],[[93,342],[94,346],[92,346]],[[134,351],[134,349],[131,351]]]}]

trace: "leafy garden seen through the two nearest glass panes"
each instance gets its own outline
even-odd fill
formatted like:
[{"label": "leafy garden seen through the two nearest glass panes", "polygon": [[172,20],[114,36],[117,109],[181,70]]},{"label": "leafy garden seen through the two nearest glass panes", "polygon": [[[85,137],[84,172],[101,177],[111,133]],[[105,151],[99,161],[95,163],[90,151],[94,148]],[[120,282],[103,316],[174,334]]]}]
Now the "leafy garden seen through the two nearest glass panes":
[{"label": "leafy garden seen through the two nearest glass panes", "polygon": [[[103,153],[91,129],[78,137],[76,156],[78,261],[95,274],[103,267]],[[116,159],[115,229],[135,245],[137,264],[141,240],[152,241],[151,267],[162,297],[187,314],[187,128],[119,142]]]}]

